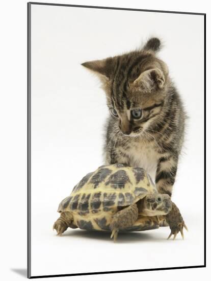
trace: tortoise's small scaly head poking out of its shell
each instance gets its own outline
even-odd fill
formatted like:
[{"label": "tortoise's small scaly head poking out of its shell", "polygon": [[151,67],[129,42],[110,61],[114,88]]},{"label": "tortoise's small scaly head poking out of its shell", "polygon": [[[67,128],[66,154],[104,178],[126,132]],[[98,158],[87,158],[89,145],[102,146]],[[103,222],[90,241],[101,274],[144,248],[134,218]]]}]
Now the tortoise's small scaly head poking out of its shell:
[{"label": "tortoise's small scaly head poking out of its shell", "polygon": [[168,194],[153,193],[142,199],[139,213],[143,216],[167,215],[171,210],[171,197]]}]

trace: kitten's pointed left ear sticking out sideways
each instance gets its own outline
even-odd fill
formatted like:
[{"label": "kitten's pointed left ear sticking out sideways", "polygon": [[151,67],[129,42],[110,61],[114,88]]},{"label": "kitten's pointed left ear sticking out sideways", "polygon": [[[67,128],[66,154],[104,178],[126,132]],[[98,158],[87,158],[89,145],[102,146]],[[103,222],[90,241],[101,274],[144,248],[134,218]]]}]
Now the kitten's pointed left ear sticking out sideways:
[{"label": "kitten's pointed left ear sticking out sideways", "polygon": [[83,66],[87,67],[96,74],[101,74],[104,77],[110,78],[113,60],[112,58],[93,60],[82,63]]}]

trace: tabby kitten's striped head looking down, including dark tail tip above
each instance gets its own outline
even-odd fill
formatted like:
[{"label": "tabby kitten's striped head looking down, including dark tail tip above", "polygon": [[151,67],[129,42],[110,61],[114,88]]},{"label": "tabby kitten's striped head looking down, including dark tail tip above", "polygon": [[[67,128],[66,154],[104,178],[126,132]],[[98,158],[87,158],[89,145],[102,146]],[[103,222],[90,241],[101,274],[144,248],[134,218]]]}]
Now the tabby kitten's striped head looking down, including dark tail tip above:
[{"label": "tabby kitten's striped head looking down, including dark tail tip above", "polygon": [[151,38],[139,51],[82,64],[99,76],[123,134],[140,134],[162,114],[168,68],[155,56],[160,45],[159,39]]}]

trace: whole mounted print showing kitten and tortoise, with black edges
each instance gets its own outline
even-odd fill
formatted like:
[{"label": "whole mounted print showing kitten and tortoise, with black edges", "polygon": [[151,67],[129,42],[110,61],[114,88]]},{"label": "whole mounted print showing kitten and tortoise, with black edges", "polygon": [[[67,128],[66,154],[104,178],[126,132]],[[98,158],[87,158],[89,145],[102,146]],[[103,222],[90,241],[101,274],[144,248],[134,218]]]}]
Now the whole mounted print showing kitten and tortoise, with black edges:
[{"label": "whole mounted print showing kitten and tortoise, with black edges", "polygon": [[28,3],[29,278],[205,266],[204,58],[205,14]]}]

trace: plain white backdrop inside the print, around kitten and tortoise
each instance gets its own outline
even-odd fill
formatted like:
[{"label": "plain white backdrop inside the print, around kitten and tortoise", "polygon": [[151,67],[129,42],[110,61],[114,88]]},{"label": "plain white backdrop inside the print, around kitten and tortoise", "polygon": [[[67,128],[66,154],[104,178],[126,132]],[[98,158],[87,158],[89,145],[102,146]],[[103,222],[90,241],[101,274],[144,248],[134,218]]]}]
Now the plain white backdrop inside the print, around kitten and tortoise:
[{"label": "plain white backdrop inside the print, around kitten and tortoise", "polygon": [[[32,276],[203,265],[203,21],[32,5]],[[173,193],[190,232],[185,241],[166,241],[169,228],[120,234],[117,245],[109,233],[68,229],[58,238],[58,204],[103,164],[105,94],[81,63],[134,50],[152,34],[164,40],[160,56],[190,117]]]}]

